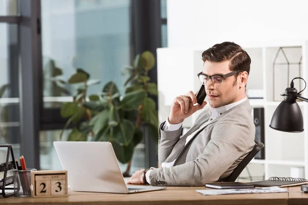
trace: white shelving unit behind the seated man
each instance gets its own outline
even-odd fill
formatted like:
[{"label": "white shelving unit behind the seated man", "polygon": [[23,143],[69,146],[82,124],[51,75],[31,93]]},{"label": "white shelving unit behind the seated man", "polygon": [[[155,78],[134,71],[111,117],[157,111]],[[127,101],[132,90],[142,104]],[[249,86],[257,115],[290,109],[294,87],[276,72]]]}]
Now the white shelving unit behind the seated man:
[{"label": "white shelving unit behind the seated man", "polygon": [[[265,149],[265,159],[253,159],[250,163],[250,165],[253,165],[253,169],[249,169],[250,172],[253,173],[256,169],[260,169],[258,172],[263,172],[265,179],[271,176],[290,177],[291,168],[297,167],[304,168],[304,176],[302,177],[308,178],[308,103],[298,101],[304,118],[304,132],[287,133],[269,128],[273,113],[283,100],[281,97],[278,101],[275,101],[274,88],[277,100],[279,98],[277,93],[284,93],[284,90],[290,87],[291,80],[294,77],[299,77],[298,69],[296,70],[294,66],[290,68],[290,80],[283,78],[283,75],[279,73],[280,71],[285,71],[285,68],[275,66],[275,82],[277,83],[280,80],[281,85],[276,84],[274,86],[273,63],[276,54],[279,48],[283,47],[286,56],[290,58],[289,61],[297,58],[297,60],[300,60],[301,55],[300,77],[304,78],[308,83],[308,42],[297,40],[241,46],[252,58],[247,90],[263,89],[264,92],[263,99],[249,99],[254,108],[264,108],[265,133],[265,147],[263,148]],[[296,51],[292,50],[294,47],[296,47]],[[203,69],[201,54],[205,49],[160,48],[157,50],[160,121],[166,119],[174,97],[185,94],[190,90],[198,90],[200,84],[197,73]],[[282,59],[283,56],[278,56],[276,63],[282,63]],[[304,88],[302,80],[296,79],[294,83],[298,92]],[[302,96],[308,98],[308,85],[307,89],[302,92]],[[190,127],[200,112],[187,118],[183,127]]]}]

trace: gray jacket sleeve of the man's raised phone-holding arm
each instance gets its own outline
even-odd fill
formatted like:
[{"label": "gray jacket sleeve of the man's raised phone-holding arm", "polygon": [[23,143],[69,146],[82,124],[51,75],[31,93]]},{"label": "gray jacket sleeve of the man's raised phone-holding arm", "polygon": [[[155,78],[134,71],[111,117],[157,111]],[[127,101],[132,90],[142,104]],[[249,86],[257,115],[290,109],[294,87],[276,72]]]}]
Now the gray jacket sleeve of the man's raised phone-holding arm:
[{"label": "gray jacket sleeve of the man's raised phone-holding arm", "polygon": [[158,144],[158,161],[160,163],[164,162],[166,158],[170,155],[172,149],[177,144],[181,133],[182,127],[175,131],[163,131],[163,126],[165,122],[163,122],[159,127],[159,144]]}]

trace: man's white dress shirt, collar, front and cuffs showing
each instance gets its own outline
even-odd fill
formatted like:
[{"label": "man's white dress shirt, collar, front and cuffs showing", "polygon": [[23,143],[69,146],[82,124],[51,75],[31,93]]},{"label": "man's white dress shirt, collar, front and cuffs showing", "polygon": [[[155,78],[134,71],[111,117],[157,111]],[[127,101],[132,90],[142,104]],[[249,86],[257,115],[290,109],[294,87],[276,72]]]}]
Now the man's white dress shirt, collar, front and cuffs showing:
[{"label": "man's white dress shirt, collar, front and cuffs showing", "polygon": [[[228,111],[229,109],[243,103],[243,101],[245,101],[247,99],[247,97],[245,97],[244,99],[241,99],[239,101],[236,101],[235,103],[229,104],[229,105],[225,105],[225,106],[221,106],[219,108],[210,108],[208,110],[208,113],[210,114],[210,118],[208,119],[208,121],[202,125],[198,130],[196,130],[195,132],[191,133],[187,138],[186,138],[186,142],[185,142],[185,146],[186,144],[190,141],[190,139],[197,133],[199,132],[201,129],[203,129],[204,127],[206,127],[208,125],[208,123],[213,120],[216,119],[219,115],[221,115],[222,113]],[[171,132],[171,131],[176,131],[178,129],[180,129],[182,127],[182,123],[180,124],[176,124],[176,125],[172,125],[169,123],[168,119],[165,122],[165,125],[163,126],[163,130],[165,132]],[[182,137],[182,136],[181,136]],[[184,146],[184,147],[185,147]],[[171,162],[163,162],[162,163],[162,167],[172,167],[174,165],[176,160],[171,161]],[[146,181],[150,181],[150,173],[151,170],[147,171],[145,174],[146,177]]]}]

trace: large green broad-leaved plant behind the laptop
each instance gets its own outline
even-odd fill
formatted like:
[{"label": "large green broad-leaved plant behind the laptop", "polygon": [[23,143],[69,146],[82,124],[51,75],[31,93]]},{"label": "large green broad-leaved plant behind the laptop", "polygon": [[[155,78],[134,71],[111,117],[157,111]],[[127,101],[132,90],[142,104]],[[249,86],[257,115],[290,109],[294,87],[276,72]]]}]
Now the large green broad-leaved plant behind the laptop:
[{"label": "large green broad-leaved plant behind the laptop", "polygon": [[58,85],[75,87],[73,101],[61,108],[61,116],[68,118],[63,131],[74,122],[68,141],[110,141],[121,163],[128,163],[123,176],[129,176],[134,148],[143,139],[143,130],[154,142],[158,142],[158,113],[156,102],[149,95],[156,95],[157,84],[150,82],[148,72],[155,65],[155,57],[144,51],[134,58],[132,66],[126,66],[122,74],[129,74],[121,96],[113,81],[108,82],[101,93],[87,96],[87,88],[99,84],[90,74],[77,69],[68,80],[54,78]]}]

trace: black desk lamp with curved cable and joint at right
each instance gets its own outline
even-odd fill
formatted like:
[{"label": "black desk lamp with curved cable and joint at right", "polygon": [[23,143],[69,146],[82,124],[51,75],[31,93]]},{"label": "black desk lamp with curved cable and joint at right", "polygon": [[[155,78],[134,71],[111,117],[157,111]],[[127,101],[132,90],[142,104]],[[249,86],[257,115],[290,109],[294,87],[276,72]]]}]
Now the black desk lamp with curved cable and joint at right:
[{"label": "black desk lamp with curved cable and joint at right", "polygon": [[[295,77],[292,79],[290,88],[286,88],[285,92],[281,94],[284,96],[284,99],[275,110],[271,120],[271,125],[269,125],[269,127],[275,130],[282,132],[304,131],[303,115],[299,105],[296,103],[296,99],[301,99],[306,102],[308,102],[308,99],[301,97],[300,93],[303,90],[297,92],[296,88],[294,88],[294,79],[302,79],[305,82],[303,90],[306,88],[306,81],[303,78]],[[308,185],[302,185],[301,190],[308,193]]]}]

